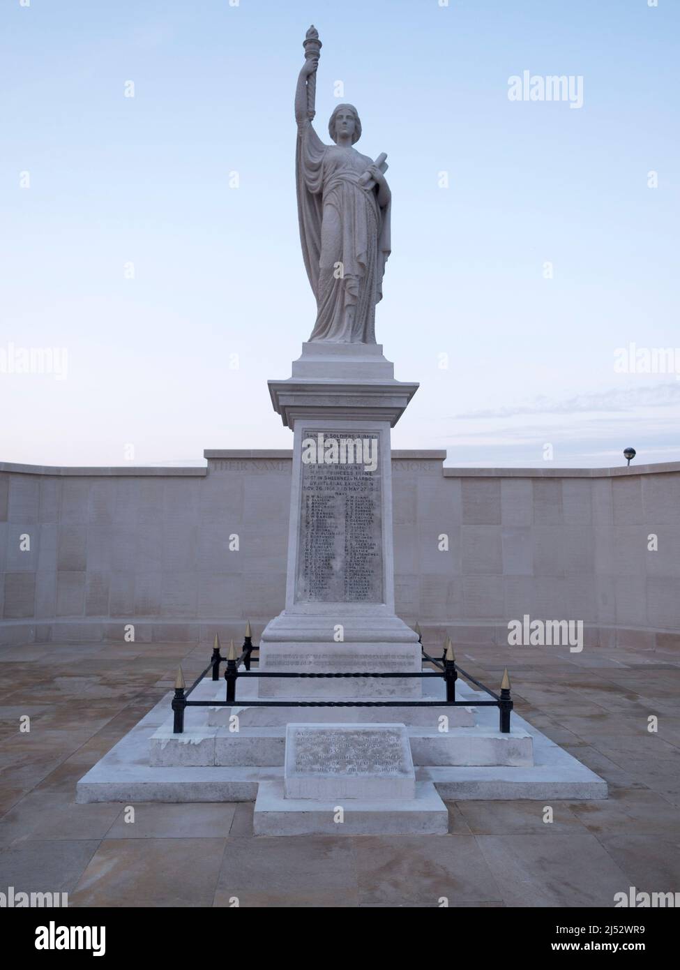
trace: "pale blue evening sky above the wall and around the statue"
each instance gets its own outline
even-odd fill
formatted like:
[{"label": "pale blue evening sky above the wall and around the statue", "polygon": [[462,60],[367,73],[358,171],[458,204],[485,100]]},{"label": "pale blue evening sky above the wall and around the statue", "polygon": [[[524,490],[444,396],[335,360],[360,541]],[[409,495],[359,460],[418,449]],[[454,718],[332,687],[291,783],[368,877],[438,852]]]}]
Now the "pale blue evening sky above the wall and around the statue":
[{"label": "pale blue evening sky above the wall and around the statue", "polygon": [[420,383],[393,447],[680,461],[676,0],[3,0],[0,461],[292,447],[267,380],[315,317],[312,22],[318,133],[350,102],[388,155],[376,336]]}]

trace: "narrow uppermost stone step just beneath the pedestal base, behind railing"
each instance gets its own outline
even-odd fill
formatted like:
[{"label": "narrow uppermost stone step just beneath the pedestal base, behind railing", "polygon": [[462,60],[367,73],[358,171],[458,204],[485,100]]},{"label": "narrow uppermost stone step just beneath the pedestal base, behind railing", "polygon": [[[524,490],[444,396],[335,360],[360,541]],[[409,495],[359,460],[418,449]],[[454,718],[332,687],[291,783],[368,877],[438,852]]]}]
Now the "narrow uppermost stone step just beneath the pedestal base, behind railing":
[{"label": "narrow uppermost stone step just beneath the pedestal base, behind railing", "polygon": [[[247,703],[247,702],[246,702]],[[239,718],[239,727],[285,727],[289,724],[373,724],[389,721],[438,730],[440,718],[448,727],[474,727],[473,707],[209,707],[210,727],[229,727]]]}]

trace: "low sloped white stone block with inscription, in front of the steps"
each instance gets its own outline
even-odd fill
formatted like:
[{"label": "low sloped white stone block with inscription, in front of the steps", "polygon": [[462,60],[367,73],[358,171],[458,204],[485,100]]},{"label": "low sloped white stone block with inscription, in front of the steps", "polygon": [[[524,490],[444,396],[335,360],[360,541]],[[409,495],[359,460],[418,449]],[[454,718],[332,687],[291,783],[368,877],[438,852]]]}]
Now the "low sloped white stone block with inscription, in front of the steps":
[{"label": "low sloped white stone block with inscription, in front of the steps", "polygon": [[284,791],[286,798],[413,798],[405,726],[288,725]]}]

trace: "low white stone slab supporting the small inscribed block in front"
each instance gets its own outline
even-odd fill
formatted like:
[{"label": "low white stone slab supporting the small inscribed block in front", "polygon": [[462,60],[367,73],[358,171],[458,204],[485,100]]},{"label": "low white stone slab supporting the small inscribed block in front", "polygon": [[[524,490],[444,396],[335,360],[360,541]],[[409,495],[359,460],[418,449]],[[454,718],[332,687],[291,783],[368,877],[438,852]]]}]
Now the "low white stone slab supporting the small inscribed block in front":
[{"label": "low white stone slab supporting the small inscribed block in front", "polygon": [[448,811],[432,782],[416,782],[404,801],[284,798],[283,781],[260,782],[255,835],[443,835]]}]

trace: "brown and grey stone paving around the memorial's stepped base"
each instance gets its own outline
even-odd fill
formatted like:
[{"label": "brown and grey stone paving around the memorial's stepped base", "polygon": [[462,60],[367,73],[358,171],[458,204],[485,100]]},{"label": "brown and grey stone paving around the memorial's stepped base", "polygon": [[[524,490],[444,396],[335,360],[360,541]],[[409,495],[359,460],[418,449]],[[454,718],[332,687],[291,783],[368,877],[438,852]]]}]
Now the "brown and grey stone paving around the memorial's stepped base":
[{"label": "brown and grey stone paving around the memorial's stepped base", "polygon": [[[437,651],[438,652],[438,651]],[[210,651],[0,648],[0,890],[74,906],[612,906],[680,891],[680,657],[457,648],[489,686],[609,784],[607,801],[461,801],[440,836],[254,838],[252,804],[75,804],[76,782]],[[19,717],[31,730],[20,733]],[[647,729],[659,718],[658,733]]]}]

